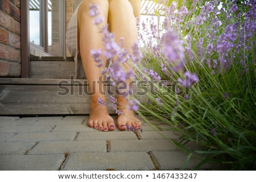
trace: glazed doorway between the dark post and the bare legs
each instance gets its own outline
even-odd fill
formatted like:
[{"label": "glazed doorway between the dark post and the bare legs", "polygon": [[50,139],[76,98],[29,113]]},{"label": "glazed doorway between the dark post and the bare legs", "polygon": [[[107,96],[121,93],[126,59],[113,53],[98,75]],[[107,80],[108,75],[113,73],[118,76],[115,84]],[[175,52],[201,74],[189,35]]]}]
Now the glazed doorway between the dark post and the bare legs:
[{"label": "glazed doorway between the dark post and the bare legs", "polygon": [[65,1],[29,0],[30,55],[64,56]]}]

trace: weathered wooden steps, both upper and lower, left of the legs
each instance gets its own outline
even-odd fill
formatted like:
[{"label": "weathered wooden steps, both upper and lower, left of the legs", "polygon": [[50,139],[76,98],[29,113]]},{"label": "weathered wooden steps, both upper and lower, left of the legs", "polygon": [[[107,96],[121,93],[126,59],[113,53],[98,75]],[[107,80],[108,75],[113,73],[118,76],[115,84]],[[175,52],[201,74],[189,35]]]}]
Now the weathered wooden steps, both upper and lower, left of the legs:
[{"label": "weathered wooden steps, both upper and lower, left of the legs", "polygon": [[89,114],[87,81],[68,59],[31,57],[31,78],[0,78],[0,115]]}]

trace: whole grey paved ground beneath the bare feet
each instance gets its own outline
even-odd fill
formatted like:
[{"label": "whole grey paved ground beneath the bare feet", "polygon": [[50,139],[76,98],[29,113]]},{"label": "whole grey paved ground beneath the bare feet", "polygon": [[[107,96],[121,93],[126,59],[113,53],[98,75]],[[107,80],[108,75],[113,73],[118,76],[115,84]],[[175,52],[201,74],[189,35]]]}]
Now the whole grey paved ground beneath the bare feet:
[{"label": "whole grey paved ground beneath the bare feet", "polygon": [[[116,123],[117,116],[112,117]],[[153,170],[155,166],[148,152],[161,170],[180,169],[187,159],[187,154],[151,126],[143,125],[138,139],[130,131],[94,130],[86,125],[88,118],[88,115],[0,117],[0,170],[58,170],[67,152],[64,170]],[[170,131],[170,125],[152,122],[167,138],[178,139]],[[195,142],[188,142],[185,147],[190,151],[200,149]],[[186,169],[199,162],[192,158]],[[200,169],[217,168],[211,165],[204,164]]]}]

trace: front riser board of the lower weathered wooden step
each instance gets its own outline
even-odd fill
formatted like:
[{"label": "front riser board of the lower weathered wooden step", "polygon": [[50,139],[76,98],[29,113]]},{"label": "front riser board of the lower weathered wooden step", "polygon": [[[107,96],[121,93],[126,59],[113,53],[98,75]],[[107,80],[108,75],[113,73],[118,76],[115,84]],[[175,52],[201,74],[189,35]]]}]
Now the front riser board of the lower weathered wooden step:
[{"label": "front riser board of the lower weathered wooden step", "polygon": [[[90,95],[86,87],[0,85],[0,115],[89,114]],[[114,110],[109,109],[109,113],[114,114]]]}]

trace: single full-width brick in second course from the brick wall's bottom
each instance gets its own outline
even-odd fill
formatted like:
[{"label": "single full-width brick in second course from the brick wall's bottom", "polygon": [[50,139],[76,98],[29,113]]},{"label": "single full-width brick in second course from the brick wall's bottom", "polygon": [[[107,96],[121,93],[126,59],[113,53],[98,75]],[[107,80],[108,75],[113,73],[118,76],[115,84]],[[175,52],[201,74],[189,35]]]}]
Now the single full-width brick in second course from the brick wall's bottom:
[{"label": "single full-width brick in second course from the brick wall's bottom", "polygon": [[0,59],[20,62],[20,51],[10,46],[0,44]]}]

